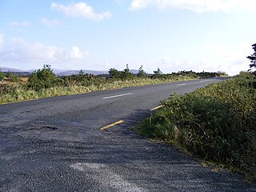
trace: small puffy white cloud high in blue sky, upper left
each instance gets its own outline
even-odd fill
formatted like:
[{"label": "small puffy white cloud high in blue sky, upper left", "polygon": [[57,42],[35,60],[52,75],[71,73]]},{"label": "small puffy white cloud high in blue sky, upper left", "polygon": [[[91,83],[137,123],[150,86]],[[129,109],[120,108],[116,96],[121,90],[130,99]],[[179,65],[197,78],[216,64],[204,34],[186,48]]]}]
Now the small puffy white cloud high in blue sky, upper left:
[{"label": "small puffy white cloud high in blue sky, upper left", "polygon": [[85,2],[73,3],[68,6],[60,5],[55,2],[51,3],[50,8],[52,10],[58,10],[67,16],[78,18],[90,18],[94,20],[102,20],[104,18],[111,18],[112,14],[110,11],[106,11],[100,14],[94,12],[93,7],[88,6]]}]

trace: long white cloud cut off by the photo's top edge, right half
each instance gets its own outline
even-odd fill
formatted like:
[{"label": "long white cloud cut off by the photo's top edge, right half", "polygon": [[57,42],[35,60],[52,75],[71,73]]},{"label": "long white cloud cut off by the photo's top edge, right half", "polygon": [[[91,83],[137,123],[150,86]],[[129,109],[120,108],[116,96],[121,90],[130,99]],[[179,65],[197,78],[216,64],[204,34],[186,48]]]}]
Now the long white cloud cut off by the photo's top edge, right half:
[{"label": "long white cloud cut off by the photo's top edge, right half", "polygon": [[194,12],[229,12],[251,11],[255,12],[254,0],[132,0],[130,10],[142,10],[147,7],[158,9],[191,10]]}]

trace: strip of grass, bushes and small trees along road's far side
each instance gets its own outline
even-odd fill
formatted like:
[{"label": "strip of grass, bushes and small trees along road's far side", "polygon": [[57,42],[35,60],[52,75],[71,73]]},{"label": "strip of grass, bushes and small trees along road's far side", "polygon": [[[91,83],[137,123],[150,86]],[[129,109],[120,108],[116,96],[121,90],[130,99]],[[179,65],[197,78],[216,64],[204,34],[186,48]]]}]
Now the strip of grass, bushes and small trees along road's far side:
[{"label": "strip of grass, bushes and small trees along road's far side", "polygon": [[[122,71],[111,68],[109,75],[106,76],[84,74],[80,70],[78,74],[56,77],[50,66],[46,65],[41,70],[34,71],[28,78],[19,78],[16,74],[2,73],[4,81],[0,83],[0,103],[222,75],[226,74],[222,72],[195,73],[193,71],[162,74],[159,68],[154,71],[154,74],[148,75],[142,66],[139,68],[138,74],[133,74],[129,66],[126,65],[126,69]],[[26,80],[24,81],[24,79]]]}]

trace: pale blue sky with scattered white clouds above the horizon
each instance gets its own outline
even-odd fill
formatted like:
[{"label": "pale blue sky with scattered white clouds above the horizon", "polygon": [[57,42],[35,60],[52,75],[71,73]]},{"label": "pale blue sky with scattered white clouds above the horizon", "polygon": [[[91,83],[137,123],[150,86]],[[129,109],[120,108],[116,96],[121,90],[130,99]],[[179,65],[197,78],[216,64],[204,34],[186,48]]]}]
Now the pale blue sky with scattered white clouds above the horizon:
[{"label": "pale blue sky with scattered white clouds above the horizon", "polygon": [[255,0],[0,0],[0,66],[249,69]]}]

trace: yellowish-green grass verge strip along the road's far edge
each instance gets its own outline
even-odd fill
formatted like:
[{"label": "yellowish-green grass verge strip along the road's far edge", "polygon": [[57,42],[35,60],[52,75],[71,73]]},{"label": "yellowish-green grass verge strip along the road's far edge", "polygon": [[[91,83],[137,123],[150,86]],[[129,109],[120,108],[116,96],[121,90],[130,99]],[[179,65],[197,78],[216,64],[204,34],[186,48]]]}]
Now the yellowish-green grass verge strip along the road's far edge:
[{"label": "yellowish-green grass verge strip along the road's far edge", "polygon": [[[72,86],[54,86],[48,89],[41,90],[26,90],[24,85],[15,85],[10,86],[10,88],[6,88],[6,86],[2,89],[7,91],[7,94],[0,94],[0,104],[10,103],[10,102],[22,102],[28,101],[38,98],[50,98],[61,95],[71,95],[71,94],[83,94],[89,93],[97,90],[114,90],[123,87],[129,86],[145,86],[151,84],[158,83],[166,83],[166,82],[174,82],[174,81],[185,81],[192,80],[195,78],[180,76],[175,79],[161,79],[161,78],[134,78],[132,80],[117,80],[114,82],[102,82],[97,83],[97,85],[89,85],[89,86],[76,86],[75,84]],[[3,86],[2,86],[3,87]],[[9,87],[9,86],[7,86]],[[0,87],[1,90],[1,87]]]}]

